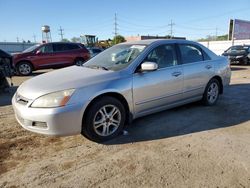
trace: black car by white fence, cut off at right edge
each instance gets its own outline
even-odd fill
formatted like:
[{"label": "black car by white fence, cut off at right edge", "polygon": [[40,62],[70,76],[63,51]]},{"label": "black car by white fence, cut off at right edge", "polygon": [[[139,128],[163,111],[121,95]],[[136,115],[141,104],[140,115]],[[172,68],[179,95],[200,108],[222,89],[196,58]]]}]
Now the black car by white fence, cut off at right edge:
[{"label": "black car by white fence, cut off at right edge", "polygon": [[237,45],[228,48],[222,55],[229,58],[231,64],[250,64],[250,45]]}]

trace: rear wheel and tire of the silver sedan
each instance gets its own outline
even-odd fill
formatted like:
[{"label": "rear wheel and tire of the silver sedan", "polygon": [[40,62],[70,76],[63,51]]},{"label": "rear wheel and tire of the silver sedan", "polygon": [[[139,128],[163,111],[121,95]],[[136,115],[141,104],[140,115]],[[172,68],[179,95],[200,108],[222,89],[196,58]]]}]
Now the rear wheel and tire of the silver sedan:
[{"label": "rear wheel and tire of the silver sedan", "polygon": [[204,91],[202,102],[206,106],[213,106],[216,104],[220,93],[220,83],[217,79],[211,79]]}]

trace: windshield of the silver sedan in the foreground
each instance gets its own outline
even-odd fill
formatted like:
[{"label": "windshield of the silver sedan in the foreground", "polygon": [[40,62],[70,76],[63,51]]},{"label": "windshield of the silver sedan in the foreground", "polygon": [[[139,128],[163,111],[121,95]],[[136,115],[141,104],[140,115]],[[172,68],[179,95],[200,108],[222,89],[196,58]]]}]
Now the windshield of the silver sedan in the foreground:
[{"label": "windshield of the silver sedan in the foreground", "polygon": [[88,68],[119,71],[137,58],[146,45],[120,44],[113,46],[90,59],[83,66]]}]

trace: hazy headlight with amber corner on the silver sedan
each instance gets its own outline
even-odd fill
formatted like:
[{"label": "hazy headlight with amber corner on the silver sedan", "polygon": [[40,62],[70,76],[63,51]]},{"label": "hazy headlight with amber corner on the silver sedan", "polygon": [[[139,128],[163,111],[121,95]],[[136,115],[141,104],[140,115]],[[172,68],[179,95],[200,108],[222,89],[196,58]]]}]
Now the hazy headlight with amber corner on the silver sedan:
[{"label": "hazy headlight with amber corner on the silver sedan", "polygon": [[75,89],[68,89],[64,91],[58,91],[54,93],[49,93],[37,98],[31,107],[34,108],[53,108],[65,106],[69,101],[70,97],[74,93]]}]

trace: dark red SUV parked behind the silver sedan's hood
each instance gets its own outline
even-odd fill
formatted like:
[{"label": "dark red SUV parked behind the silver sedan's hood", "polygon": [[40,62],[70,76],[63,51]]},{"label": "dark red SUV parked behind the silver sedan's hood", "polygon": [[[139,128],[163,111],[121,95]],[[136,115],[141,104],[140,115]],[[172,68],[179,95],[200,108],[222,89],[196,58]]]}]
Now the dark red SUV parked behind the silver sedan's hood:
[{"label": "dark red SUV parked behind the silver sedan's hood", "polygon": [[13,56],[19,75],[27,76],[34,70],[82,65],[90,58],[89,51],[80,43],[52,42],[32,46]]}]

